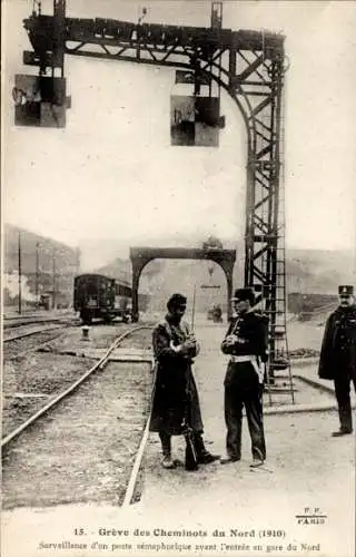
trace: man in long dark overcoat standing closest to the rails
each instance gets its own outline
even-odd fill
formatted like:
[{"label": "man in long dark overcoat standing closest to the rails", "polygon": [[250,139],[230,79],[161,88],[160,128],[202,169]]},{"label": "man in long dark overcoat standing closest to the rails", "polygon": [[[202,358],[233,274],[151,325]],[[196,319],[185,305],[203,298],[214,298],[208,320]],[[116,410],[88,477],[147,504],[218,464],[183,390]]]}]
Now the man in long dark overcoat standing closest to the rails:
[{"label": "man in long dark overcoat standing closest to the rails", "polygon": [[192,429],[198,463],[207,465],[219,458],[206,450],[202,440],[200,405],[191,371],[199,345],[188,324],[181,321],[186,307],[186,296],[174,294],[168,300],[165,320],[152,333],[157,374],[150,431],[159,434],[164,468],[175,468],[171,436],[182,434],[186,424]]}]

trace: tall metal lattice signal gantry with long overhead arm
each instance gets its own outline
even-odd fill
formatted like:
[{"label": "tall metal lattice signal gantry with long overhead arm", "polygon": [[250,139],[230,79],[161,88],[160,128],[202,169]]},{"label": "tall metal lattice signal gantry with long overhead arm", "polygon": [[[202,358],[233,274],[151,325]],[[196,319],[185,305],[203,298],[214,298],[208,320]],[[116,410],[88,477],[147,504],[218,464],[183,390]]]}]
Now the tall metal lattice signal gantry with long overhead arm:
[{"label": "tall metal lattice signal gantry with long overhead arm", "polygon": [[[55,16],[24,20],[32,51],[27,65],[63,69],[63,56],[81,56],[184,68],[195,84],[215,81],[238,107],[247,131],[245,285],[258,293],[269,316],[270,375],[288,356],[284,247],[283,97],[284,37],[221,28],[221,2],[214,2],[211,27],[132,23],[115,19]],[[56,40],[53,40],[53,37]],[[201,81],[200,81],[201,79]],[[288,367],[288,362],[285,362]],[[291,382],[290,382],[291,384]]]}]

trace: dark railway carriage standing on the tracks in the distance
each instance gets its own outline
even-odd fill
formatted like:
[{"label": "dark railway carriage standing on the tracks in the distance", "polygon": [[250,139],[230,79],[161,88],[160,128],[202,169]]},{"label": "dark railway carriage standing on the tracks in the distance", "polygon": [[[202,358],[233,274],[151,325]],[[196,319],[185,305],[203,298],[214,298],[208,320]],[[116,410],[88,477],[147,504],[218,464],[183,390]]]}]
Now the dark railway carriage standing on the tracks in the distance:
[{"label": "dark railway carriage standing on the tracks in the distance", "polygon": [[[101,274],[81,274],[75,277],[73,307],[83,324],[93,319],[110,323],[120,317],[125,323],[132,319],[132,290],[123,281]],[[139,307],[147,307],[147,294],[139,294]]]}]

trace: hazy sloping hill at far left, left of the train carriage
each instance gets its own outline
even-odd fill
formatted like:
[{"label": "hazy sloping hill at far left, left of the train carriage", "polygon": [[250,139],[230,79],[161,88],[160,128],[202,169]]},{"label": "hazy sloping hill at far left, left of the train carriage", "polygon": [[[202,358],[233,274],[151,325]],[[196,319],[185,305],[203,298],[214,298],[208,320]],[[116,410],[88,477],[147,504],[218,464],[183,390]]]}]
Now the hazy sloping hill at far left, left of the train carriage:
[{"label": "hazy sloping hill at far left, left of the train carriage", "polygon": [[56,304],[71,304],[73,277],[80,271],[80,252],[52,238],[10,224],[4,224],[3,232],[4,305],[18,303],[19,238],[22,301],[28,303],[36,301],[38,282],[39,294],[47,293],[52,297],[55,290]]}]

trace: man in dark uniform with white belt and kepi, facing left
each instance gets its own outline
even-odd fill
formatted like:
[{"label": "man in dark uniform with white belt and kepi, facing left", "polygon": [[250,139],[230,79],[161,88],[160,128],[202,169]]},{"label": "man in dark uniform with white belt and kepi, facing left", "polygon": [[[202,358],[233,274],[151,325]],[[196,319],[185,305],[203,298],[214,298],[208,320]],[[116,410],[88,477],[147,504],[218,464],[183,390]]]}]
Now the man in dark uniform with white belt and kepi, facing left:
[{"label": "man in dark uniform with white belt and kepi, facing left", "polygon": [[255,294],[251,289],[238,289],[233,297],[235,314],[221,350],[230,355],[225,377],[225,421],[227,427],[227,457],[221,465],[241,458],[243,407],[246,410],[251,437],[251,467],[259,467],[266,459],[263,421],[264,372],[268,329],[267,317],[254,312]]}]

